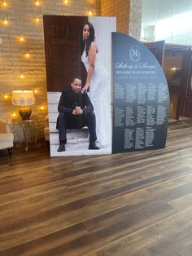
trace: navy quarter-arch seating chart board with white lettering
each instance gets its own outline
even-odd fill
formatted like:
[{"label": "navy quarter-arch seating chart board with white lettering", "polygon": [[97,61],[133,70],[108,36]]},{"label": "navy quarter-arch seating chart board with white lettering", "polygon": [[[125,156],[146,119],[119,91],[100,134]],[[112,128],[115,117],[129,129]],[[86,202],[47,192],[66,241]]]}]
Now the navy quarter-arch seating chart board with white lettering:
[{"label": "navy quarter-arch seating chart board with white lettering", "polygon": [[169,94],[164,72],[146,46],[112,33],[112,153],[164,148]]}]

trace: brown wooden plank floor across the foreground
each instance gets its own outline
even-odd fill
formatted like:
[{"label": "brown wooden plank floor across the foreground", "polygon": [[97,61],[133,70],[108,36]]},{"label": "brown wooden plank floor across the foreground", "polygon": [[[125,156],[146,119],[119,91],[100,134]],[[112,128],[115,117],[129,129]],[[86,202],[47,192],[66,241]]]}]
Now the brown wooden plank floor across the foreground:
[{"label": "brown wooden plank floor across the foreground", "polygon": [[0,255],[192,255],[192,123],[165,149],[0,152]]}]

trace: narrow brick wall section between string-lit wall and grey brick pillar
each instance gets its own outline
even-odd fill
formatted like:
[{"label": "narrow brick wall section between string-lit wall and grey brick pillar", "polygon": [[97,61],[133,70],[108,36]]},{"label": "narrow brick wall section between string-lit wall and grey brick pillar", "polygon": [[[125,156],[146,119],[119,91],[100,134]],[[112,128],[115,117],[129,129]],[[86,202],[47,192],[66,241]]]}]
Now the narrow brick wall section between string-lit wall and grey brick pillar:
[{"label": "narrow brick wall section between string-lit wall and grey brick pillar", "polygon": [[129,33],[129,0],[102,0],[101,15],[116,17],[116,30],[120,33]]}]

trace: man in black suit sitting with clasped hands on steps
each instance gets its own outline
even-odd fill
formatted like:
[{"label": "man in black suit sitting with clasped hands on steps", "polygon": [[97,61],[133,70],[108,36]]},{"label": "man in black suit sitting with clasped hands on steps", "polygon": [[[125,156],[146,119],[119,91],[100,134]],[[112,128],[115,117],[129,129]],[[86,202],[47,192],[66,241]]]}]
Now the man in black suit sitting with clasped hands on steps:
[{"label": "man in black suit sitting with clasped hands on steps", "polygon": [[95,143],[97,135],[94,107],[89,96],[86,93],[81,93],[81,79],[74,78],[71,87],[62,92],[58,111],[58,152],[65,151],[65,143],[67,143],[66,129],[81,129],[84,126],[89,129],[89,149],[100,149]]}]

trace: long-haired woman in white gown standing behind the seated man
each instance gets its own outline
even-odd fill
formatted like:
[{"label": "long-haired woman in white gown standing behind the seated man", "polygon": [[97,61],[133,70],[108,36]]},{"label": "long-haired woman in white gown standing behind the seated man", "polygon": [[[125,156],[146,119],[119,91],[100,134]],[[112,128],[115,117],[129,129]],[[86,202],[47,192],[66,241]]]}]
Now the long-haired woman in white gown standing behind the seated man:
[{"label": "long-haired woman in white gown standing behind the seated man", "polygon": [[89,88],[89,98],[94,105],[96,133],[101,146],[111,144],[111,84],[107,69],[99,59],[98,46],[94,42],[94,26],[87,22],[81,39],[81,60],[87,77],[83,91]]}]

